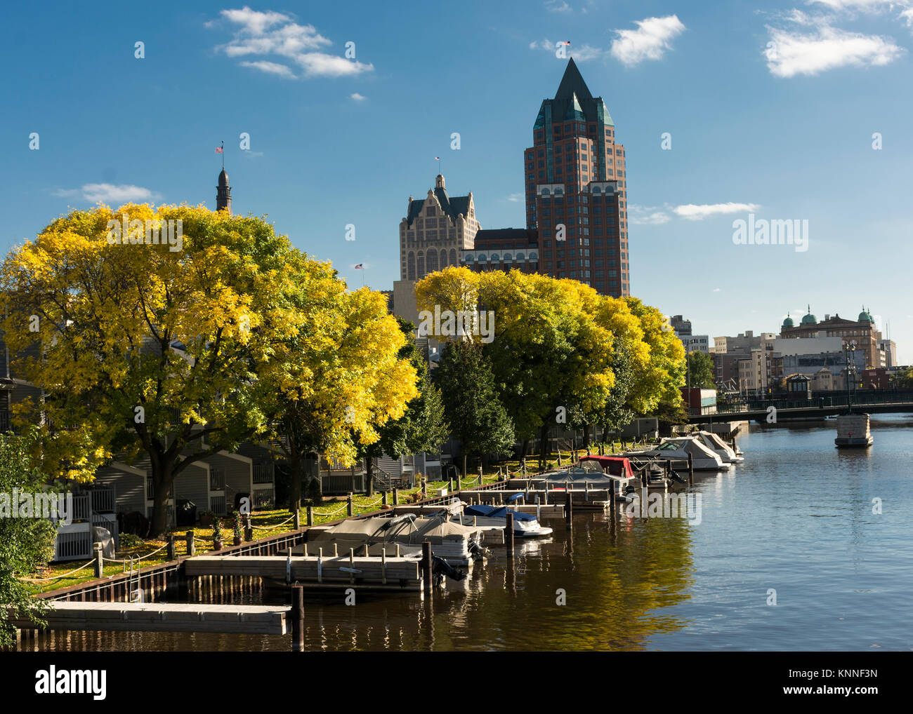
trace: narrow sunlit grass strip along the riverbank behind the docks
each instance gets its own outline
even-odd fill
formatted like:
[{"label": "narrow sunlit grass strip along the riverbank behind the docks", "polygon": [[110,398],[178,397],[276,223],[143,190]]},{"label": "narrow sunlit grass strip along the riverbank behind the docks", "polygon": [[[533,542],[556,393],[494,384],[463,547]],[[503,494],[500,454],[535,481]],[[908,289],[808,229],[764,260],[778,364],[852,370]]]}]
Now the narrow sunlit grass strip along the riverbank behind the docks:
[{"label": "narrow sunlit grass strip along the riverbank behind the docks", "polygon": [[[616,449],[620,449],[620,444],[616,443]],[[606,452],[611,453],[611,446],[606,449]],[[596,453],[596,449],[593,449],[593,453]],[[586,450],[578,450],[578,458],[580,456],[586,455]],[[572,451],[562,451],[561,452],[561,464],[568,465],[573,460]],[[536,467],[539,463],[537,457],[528,457],[527,458],[527,469],[530,474],[536,472]],[[549,460],[547,466],[549,468],[554,468],[559,465],[559,455],[557,453],[552,453],[549,455]],[[502,462],[499,467],[491,466],[488,468],[488,471],[485,471],[482,476],[482,481],[484,483],[493,483],[498,481],[498,471],[502,474],[504,471],[509,471],[511,476],[519,475],[520,464],[519,460],[508,460]],[[478,477],[476,475],[471,475],[466,479],[461,481],[461,486],[463,489],[471,489],[473,486],[477,485]],[[427,484],[427,493],[428,498],[432,498],[435,495],[437,489],[446,488],[447,481],[429,481]],[[456,488],[456,483],[454,484]],[[409,489],[406,491],[399,492],[399,502],[400,504],[412,502],[412,494],[417,494],[421,492],[420,487],[415,489]],[[393,505],[393,497],[391,496],[388,501]],[[353,515],[362,515],[363,513],[370,513],[375,511],[380,511],[382,508],[382,495],[381,493],[375,493],[373,496],[368,497],[363,494],[352,496],[352,513]],[[289,533],[292,531],[292,523],[289,520],[291,513],[288,509],[273,509],[270,511],[255,511],[251,515],[251,524],[254,526],[254,539],[258,540],[260,538],[267,538],[271,535],[278,535],[279,533]],[[330,523],[331,521],[336,521],[341,518],[346,517],[346,499],[344,497],[335,497],[325,499],[320,506],[314,507],[314,524],[319,525],[320,523]],[[229,546],[232,543],[233,532],[232,532],[232,520],[229,517],[222,518],[222,540],[225,546]],[[288,522],[288,523],[287,523]],[[307,524],[307,510],[301,509],[301,524]],[[188,530],[194,532],[194,540],[196,544],[197,554],[206,553],[212,550],[213,547],[213,529],[212,527],[205,528],[200,525],[194,526],[194,528],[188,528],[182,526],[180,529],[175,528],[171,533],[176,536],[176,550],[178,555],[185,555],[187,553],[187,545],[185,540],[185,534]],[[142,558],[142,560],[134,561],[134,567],[146,567],[148,565],[160,564],[167,562],[167,549],[164,547],[167,541],[165,540],[142,540],[138,545],[133,548],[124,549],[118,551],[117,558],[119,560],[129,559],[130,556],[135,556],[137,559]],[[161,549],[161,550],[160,550]],[[158,551],[155,553],[155,551]],[[78,568],[86,565],[87,567],[79,570],[78,573],[70,574],[72,571],[77,570]],[[111,563],[105,564],[104,574],[105,576],[122,574],[125,572],[125,567],[129,569],[128,564],[121,563]],[[32,578],[56,578],[58,575],[67,574],[67,577],[59,578],[57,580],[37,582],[37,583],[28,583],[32,588],[34,593],[43,593],[49,590],[56,590],[61,587],[67,587],[68,585],[78,585],[79,583],[84,583],[87,580],[92,580],[95,577],[95,569],[92,565],[92,561],[67,561],[66,563],[55,563],[48,564],[46,568],[41,570],[39,573],[30,575]]]}]

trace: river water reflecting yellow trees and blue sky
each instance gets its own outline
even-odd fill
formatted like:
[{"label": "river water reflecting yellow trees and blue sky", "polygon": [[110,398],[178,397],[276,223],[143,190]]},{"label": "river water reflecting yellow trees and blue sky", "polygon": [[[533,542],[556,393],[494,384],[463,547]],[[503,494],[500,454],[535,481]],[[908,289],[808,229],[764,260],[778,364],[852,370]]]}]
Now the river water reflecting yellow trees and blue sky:
[{"label": "river water reflecting yellow trees and blue sky", "polygon": [[[872,431],[871,449],[837,450],[834,421],[752,424],[744,463],[696,474],[691,520],[579,513],[572,533],[545,522],[551,538],[518,544],[512,566],[496,548],[458,592],[309,599],[306,647],[913,649],[913,416],[874,416]],[[27,645],[289,651],[290,636],[91,632]]]}]

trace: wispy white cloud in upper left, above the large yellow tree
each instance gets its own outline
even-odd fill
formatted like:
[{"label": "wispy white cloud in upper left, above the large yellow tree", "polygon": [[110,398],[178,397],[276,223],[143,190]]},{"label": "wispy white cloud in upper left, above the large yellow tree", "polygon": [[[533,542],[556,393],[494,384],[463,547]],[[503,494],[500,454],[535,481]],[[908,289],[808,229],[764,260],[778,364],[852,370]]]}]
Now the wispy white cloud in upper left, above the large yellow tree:
[{"label": "wispy white cloud in upper left, above the large yellow tree", "polygon": [[[345,77],[373,71],[372,64],[321,51],[330,47],[332,41],[320,35],[316,27],[299,25],[288,15],[251,10],[247,5],[240,10],[222,10],[220,15],[236,26],[231,41],[216,47],[227,57],[283,57],[301,67],[306,78]],[[241,64],[278,77],[296,78],[289,66],[277,62],[263,60]]]}]

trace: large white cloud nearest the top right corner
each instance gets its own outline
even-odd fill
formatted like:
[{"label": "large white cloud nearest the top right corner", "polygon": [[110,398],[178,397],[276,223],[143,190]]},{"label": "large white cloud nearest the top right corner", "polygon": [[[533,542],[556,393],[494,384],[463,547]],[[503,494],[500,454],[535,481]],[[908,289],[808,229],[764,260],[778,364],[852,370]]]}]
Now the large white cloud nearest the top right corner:
[{"label": "large white cloud nearest the top right corner", "polygon": [[904,53],[890,37],[846,32],[830,26],[826,17],[810,18],[796,11],[794,21],[814,26],[813,32],[790,32],[768,26],[771,41],[764,57],[774,77],[817,75],[836,67],[879,67]]}]

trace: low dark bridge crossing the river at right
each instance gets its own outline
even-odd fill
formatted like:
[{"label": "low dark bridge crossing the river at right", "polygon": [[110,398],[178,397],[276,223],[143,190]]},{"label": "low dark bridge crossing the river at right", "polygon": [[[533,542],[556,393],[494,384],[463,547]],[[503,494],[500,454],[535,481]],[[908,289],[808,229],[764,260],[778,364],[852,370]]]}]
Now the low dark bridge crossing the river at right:
[{"label": "low dark bridge crossing the river at right", "polygon": [[913,413],[913,389],[857,389],[851,398],[846,393],[832,392],[827,396],[797,399],[790,396],[769,398],[746,398],[738,404],[719,405],[719,411],[712,414],[691,414],[692,424],[717,421],[766,421],[771,407],[777,410],[777,421],[786,419],[808,419],[835,414],[845,414],[848,404],[853,411],[869,414],[884,412]]}]

